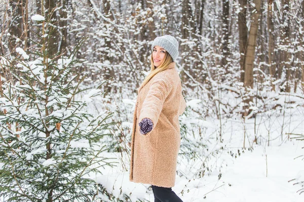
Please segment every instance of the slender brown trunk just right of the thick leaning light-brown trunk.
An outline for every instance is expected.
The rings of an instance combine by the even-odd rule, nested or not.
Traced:
[[[273,22],[273,0],[268,0],[268,16],[267,16],[267,26],[268,26],[268,65],[270,77],[274,76],[275,66],[274,66],[274,54],[275,54],[275,39],[274,39],[274,22]],[[275,85],[271,84],[273,91],[275,91]]]

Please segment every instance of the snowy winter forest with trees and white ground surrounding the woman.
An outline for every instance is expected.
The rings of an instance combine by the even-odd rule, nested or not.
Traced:
[[[183,201],[304,200],[303,0],[0,2],[0,201],[154,201],[129,181],[151,44],[179,42]]]

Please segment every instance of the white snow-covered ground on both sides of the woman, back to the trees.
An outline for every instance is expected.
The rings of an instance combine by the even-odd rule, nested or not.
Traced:
[[[134,103],[130,102],[130,105]],[[297,193],[301,186],[293,185],[298,181],[304,181],[304,141],[296,141],[288,136],[288,133],[304,134],[303,113],[302,107],[294,107],[286,109],[284,116],[282,112],[271,111],[259,114],[256,120],[251,118],[245,121],[238,116],[220,121],[214,117],[196,120],[194,114],[183,115],[180,119],[181,125],[185,124],[189,129],[193,127],[189,122],[196,120],[194,128],[202,126],[202,141],[208,141],[209,154],[212,150],[218,149],[219,145],[224,145],[228,151],[239,149],[240,156],[231,157],[226,151],[212,156],[206,162],[209,166],[215,166],[210,166],[210,175],[206,172],[201,178],[194,173],[195,169],[202,165],[200,159],[187,162],[179,158],[178,175],[172,189],[184,202],[304,201],[304,192]],[[132,127],[132,124],[124,122],[124,127]],[[219,131],[222,134],[222,143],[217,143],[216,140]],[[243,153],[244,134],[246,149]],[[255,136],[258,144],[254,143]],[[182,139],[181,143],[183,141]],[[252,148],[248,149],[251,146]],[[208,155],[205,152],[202,154]],[[121,153],[101,155],[116,158],[114,161],[118,161],[118,164],[112,168],[103,168],[102,175],[91,175],[91,178],[123,201],[126,200],[126,195],[132,202],[154,201],[149,184],[129,181],[129,157],[125,153],[123,158]],[[0,201],[5,200],[0,198]],[[105,197],[103,201],[110,200]]]

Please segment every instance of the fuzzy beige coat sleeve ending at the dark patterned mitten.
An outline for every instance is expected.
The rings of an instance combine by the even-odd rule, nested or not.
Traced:
[[[172,88],[173,85],[171,84],[170,79],[157,79],[151,83],[142,104],[138,119],[139,122],[144,118],[148,118],[153,122],[153,129],[155,128],[162,112],[163,104]],[[153,129],[151,131],[153,131]]]

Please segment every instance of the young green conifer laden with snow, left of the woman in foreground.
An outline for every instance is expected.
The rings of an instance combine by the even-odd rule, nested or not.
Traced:
[[[113,164],[100,155],[106,149],[100,139],[112,121],[108,111],[97,116],[87,111],[87,103],[102,92],[80,89],[85,76],[72,72],[81,63],[73,56],[84,40],[69,57],[56,60],[48,58],[44,44],[32,60],[21,48],[17,62],[0,59],[13,78],[2,76],[0,82],[0,197],[5,201],[111,197],[90,178]],[[90,92],[80,100],[84,90]]]

